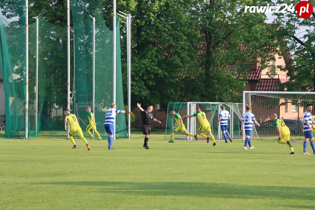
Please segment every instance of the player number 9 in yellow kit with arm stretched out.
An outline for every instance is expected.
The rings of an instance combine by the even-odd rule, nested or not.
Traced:
[[[185,117],[195,117],[195,116],[198,117],[198,120],[200,122],[200,128],[199,128],[199,131],[198,131],[199,135],[201,135],[203,138],[206,138],[207,139],[207,143],[209,143],[209,136],[210,136],[212,141],[213,141],[213,145],[212,146],[215,146],[216,145],[215,137],[211,133],[210,123],[207,120],[206,113],[201,111],[200,107],[196,108],[196,113],[195,114],[193,114],[193,115],[185,115],[185,116],[183,116],[183,118],[185,118]],[[209,136],[206,136],[205,134],[202,133],[205,130],[208,131],[208,135]],[[198,140],[198,139],[196,139],[196,140]]]

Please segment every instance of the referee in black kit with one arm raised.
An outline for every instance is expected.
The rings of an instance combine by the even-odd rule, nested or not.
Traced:
[[[153,110],[152,105],[148,105],[147,110],[142,109],[141,104],[139,104],[139,103],[137,103],[137,106],[141,110],[142,133],[143,133],[143,135],[145,135],[143,148],[149,149],[148,140],[149,140],[149,136],[151,133],[151,122],[153,120],[154,122],[158,122],[159,124],[161,124],[161,121],[159,121],[153,117],[153,115],[151,113]]]

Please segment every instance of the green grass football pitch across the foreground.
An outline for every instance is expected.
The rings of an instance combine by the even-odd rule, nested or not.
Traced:
[[[314,158],[273,140],[0,139],[0,209],[315,209]],[[311,146],[307,151],[311,153]]]

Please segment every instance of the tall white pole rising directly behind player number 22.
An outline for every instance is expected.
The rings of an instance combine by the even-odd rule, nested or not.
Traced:
[[[113,103],[116,104],[116,0],[113,0]],[[116,120],[113,139],[116,139]]]

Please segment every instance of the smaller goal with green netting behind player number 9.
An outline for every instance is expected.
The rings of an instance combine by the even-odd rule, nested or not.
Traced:
[[[200,110],[206,114],[207,120],[211,126],[211,132],[216,139],[222,139],[222,133],[220,125],[217,126],[219,113],[221,111],[221,105],[225,106],[225,109],[230,112],[231,120],[229,120],[228,131],[231,138],[241,138],[240,134],[240,118],[242,113],[242,104],[235,103],[219,103],[219,102],[187,102],[187,103],[169,103],[167,125],[165,130],[165,140],[170,139],[171,130],[174,128],[174,116],[170,114],[170,110],[174,109],[180,116],[192,115],[196,112],[196,107],[200,107]],[[200,128],[200,122],[197,117],[184,118],[183,124],[186,127],[187,132],[192,134],[198,134]],[[207,135],[207,131],[203,132]],[[193,137],[187,137],[182,132],[175,132],[174,139],[187,139],[192,140]],[[198,139],[203,139],[198,136]]]

